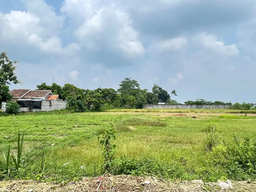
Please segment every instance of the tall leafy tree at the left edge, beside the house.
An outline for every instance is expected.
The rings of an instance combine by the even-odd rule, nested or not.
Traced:
[[[1,101],[10,100],[12,95],[9,93],[9,86],[11,83],[19,83],[15,75],[15,66],[13,64],[17,61],[10,61],[5,52],[0,54],[0,103]]]

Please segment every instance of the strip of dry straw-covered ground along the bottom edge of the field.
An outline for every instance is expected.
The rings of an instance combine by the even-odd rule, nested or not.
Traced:
[[[68,184],[54,184],[52,182],[35,182],[13,180],[0,182],[1,192],[11,191],[175,191],[175,192],[201,192],[201,191],[255,191],[256,184],[248,182],[232,182],[232,189],[221,189],[218,182],[172,182],[170,180],[157,180],[154,177],[133,177],[118,175],[113,177],[84,178],[81,182]]]

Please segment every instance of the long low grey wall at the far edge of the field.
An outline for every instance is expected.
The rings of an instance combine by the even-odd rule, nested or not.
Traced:
[[[157,105],[145,104],[143,109],[229,109],[228,105]]]

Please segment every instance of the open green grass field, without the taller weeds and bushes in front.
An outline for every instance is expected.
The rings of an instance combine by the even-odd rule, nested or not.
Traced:
[[[198,114],[197,118],[172,116],[169,113],[174,112],[162,110],[145,112],[148,111],[0,116],[0,150],[5,152],[11,145],[15,151],[18,131],[25,132],[24,161],[29,161],[15,178],[61,181],[94,177],[102,174],[103,163],[97,137],[113,124],[116,129],[113,142],[118,145],[116,158],[122,157],[124,161],[118,173],[127,173],[130,168],[129,173],[134,175],[215,181],[227,179],[230,173],[212,162],[216,152],[205,152],[205,127],[218,127],[220,140],[225,143],[232,141],[233,134],[256,138],[255,116],[227,115],[227,111],[212,115],[211,110],[203,110],[211,115],[190,111]],[[3,163],[3,157],[0,161]]]

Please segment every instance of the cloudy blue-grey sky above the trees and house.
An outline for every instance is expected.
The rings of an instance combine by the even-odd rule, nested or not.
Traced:
[[[0,0],[0,52],[20,84],[115,88],[131,77],[178,102],[256,103],[254,0]]]

